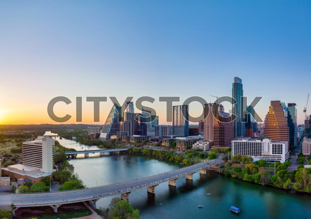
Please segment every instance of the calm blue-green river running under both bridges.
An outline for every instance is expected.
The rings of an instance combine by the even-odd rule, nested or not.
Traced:
[[[81,150],[96,146],[80,145],[72,140],[56,138],[61,145]],[[182,167],[182,165],[151,159],[134,154],[90,154],[69,161],[75,167],[87,187],[108,185],[136,178],[156,175]],[[217,173],[195,173],[193,181],[181,177],[177,186],[168,182],[156,186],[156,194],[148,194],[146,188],[133,191],[129,202],[140,210],[141,218],[311,218],[310,195],[291,193],[256,185]],[[211,195],[206,195],[211,193]],[[97,208],[107,208],[114,197],[100,199]],[[203,208],[198,208],[199,204]],[[230,206],[241,209],[231,212]]]

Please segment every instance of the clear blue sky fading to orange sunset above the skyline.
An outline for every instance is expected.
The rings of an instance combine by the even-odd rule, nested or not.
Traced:
[[[65,123],[76,123],[76,96],[84,124],[104,124],[112,107],[101,102],[94,122],[87,96],[151,96],[143,104],[167,124],[159,96],[214,102],[234,77],[249,103],[263,97],[262,118],[280,100],[301,124],[311,93],[310,1],[0,1],[0,33],[0,124],[59,124],[47,113],[57,96],[72,101],[54,105]]]

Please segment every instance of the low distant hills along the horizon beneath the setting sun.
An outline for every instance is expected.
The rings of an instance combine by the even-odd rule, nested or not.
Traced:
[[[0,125],[0,131],[50,131],[63,129],[86,129],[87,127],[103,127],[104,125],[88,125],[88,124],[29,124],[29,125]]]

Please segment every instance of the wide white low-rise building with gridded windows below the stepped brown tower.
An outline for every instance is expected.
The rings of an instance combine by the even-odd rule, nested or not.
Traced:
[[[288,141],[271,141],[271,139],[261,140],[234,140],[232,141],[232,156],[246,155],[274,162],[285,162],[289,157]]]

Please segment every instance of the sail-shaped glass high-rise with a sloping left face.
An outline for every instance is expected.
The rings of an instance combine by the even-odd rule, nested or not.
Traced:
[[[121,106],[114,104],[111,108],[103,129],[101,130],[99,140],[109,140],[111,136],[117,136],[117,132],[120,132],[120,122],[122,121],[122,109]],[[123,130],[123,129],[122,129]],[[121,131],[122,131],[121,130]]]

